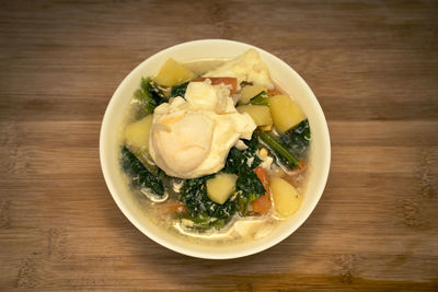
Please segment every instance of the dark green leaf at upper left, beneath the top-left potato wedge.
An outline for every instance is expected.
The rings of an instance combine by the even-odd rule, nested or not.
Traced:
[[[146,114],[152,114],[157,106],[168,102],[168,97],[159,85],[150,78],[141,79],[140,89],[134,93]]]

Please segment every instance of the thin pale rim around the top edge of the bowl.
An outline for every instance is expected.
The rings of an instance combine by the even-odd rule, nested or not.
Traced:
[[[138,71],[145,62],[148,62],[149,60],[157,58],[161,55],[165,55],[168,51],[170,50],[174,50],[177,49],[180,47],[184,47],[184,46],[191,46],[191,45],[197,45],[197,44],[203,44],[203,43],[228,43],[230,45],[239,45],[239,46],[246,46],[247,48],[255,48],[258,51],[263,51],[263,54],[268,55],[270,58],[274,58],[278,63],[280,63],[281,67],[287,68],[288,71],[291,72],[291,74],[293,74],[299,82],[301,83],[301,85],[304,87],[307,94],[309,94],[312,98],[312,103],[313,103],[313,107],[316,112],[316,115],[319,117],[321,117],[322,122],[320,126],[322,126],[321,128],[321,138],[322,141],[324,142],[324,155],[326,157],[326,163],[323,165],[323,170],[322,170],[322,179],[316,191],[313,194],[313,196],[315,196],[313,203],[307,209],[306,214],[300,217],[293,226],[290,227],[290,230],[288,232],[284,232],[281,234],[281,236],[275,237],[272,241],[269,241],[268,245],[257,245],[256,247],[252,248],[251,250],[240,250],[234,254],[208,254],[208,253],[203,253],[203,252],[197,252],[197,250],[193,250],[193,249],[188,249],[188,248],[183,248],[178,245],[173,244],[172,242],[165,241],[163,238],[161,238],[159,235],[149,232],[147,229],[145,229],[142,226],[142,224],[136,220],[131,214],[130,211],[127,209],[127,207],[124,205],[124,202],[122,201],[122,199],[119,199],[117,191],[116,191],[116,187],[114,186],[110,174],[110,167],[108,167],[108,162],[106,161],[106,156],[108,153],[108,149],[104,147],[104,140],[106,138],[106,133],[108,132],[108,122],[110,122],[110,116],[112,114],[113,110],[115,110],[115,106],[116,106],[116,96],[120,95],[120,93],[123,92],[124,87],[126,86],[127,82],[131,79],[131,77],[135,74],[136,71]],[[172,249],[176,253],[186,255],[186,256],[191,256],[191,257],[196,257],[196,258],[204,258],[204,259],[232,259],[232,258],[240,258],[240,257],[245,257],[245,256],[250,256],[250,255],[254,255],[257,254],[260,252],[263,252],[265,249],[268,249],[275,245],[277,245],[278,243],[280,243],[281,241],[284,241],[285,238],[287,238],[288,236],[290,236],[297,229],[299,229],[306,220],[308,220],[308,218],[310,217],[310,214],[313,212],[313,210],[316,208],[318,202],[320,201],[322,194],[324,191],[324,188],[326,186],[326,182],[328,178],[328,172],[330,172],[330,165],[331,165],[331,140],[330,140],[330,133],[328,133],[328,126],[324,116],[324,113],[321,108],[320,103],[318,102],[316,96],[314,95],[313,91],[310,89],[310,86],[308,85],[308,83],[304,81],[304,79],[298,74],[297,71],[295,71],[293,68],[291,68],[288,63],[286,63],[285,61],[283,61],[281,59],[279,59],[278,57],[276,57],[275,55],[250,44],[246,43],[242,43],[242,42],[237,42],[237,40],[230,40],[230,39],[220,39],[220,38],[209,38],[209,39],[197,39],[197,40],[191,40],[191,42],[185,42],[185,43],[180,43],[176,44],[174,46],[170,46],[166,47],[162,50],[159,50],[158,52],[149,56],[148,58],[146,58],[143,61],[141,61],[140,63],[138,63],[124,79],[123,81],[118,84],[116,91],[113,93],[110,103],[105,109],[105,114],[103,116],[103,120],[101,124],[101,131],[100,131],[100,161],[101,161],[101,170],[104,176],[104,180],[105,184],[110,190],[110,194],[112,195],[114,201],[116,202],[117,207],[120,209],[120,211],[124,213],[124,215],[129,220],[129,222],[131,224],[134,224],[141,233],[143,233],[146,236],[148,236],[150,240],[152,240],[153,242],[160,244],[161,246]]]

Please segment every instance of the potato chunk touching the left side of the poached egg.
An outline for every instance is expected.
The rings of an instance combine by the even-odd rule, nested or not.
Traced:
[[[152,115],[129,124],[125,128],[125,142],[134,151],[149,149],[149,132],[152,126]]]

